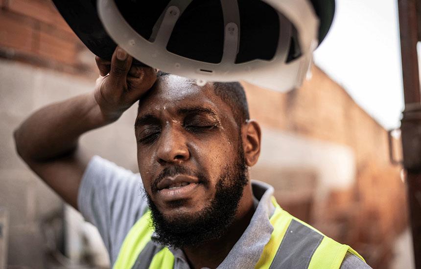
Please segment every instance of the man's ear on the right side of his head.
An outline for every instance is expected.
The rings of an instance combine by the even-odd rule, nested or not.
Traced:
[[[241,126],[244,158],[247,166],[254,166],[260,155],[260,126],[255,120],[248,120]]]

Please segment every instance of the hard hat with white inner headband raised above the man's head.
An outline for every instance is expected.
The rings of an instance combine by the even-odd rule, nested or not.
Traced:
[[[278,91],[301,85],[335,9],[334,0],[54,2],[91,50],[105,51],[108,34],[134,58],[164,72],[198,83],[242,80]],[[82,22],[70,18],[70,6]],[[103,26],[106,33],[84,30],[94,19],[91,28]],[[113,46],[107,50],[103,58],[110,57]]]

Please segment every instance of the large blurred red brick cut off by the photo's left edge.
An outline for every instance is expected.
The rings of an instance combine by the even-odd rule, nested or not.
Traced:
[[[30,21],[0,11],[0,45],[24,53],[32,53],[34,30]]]

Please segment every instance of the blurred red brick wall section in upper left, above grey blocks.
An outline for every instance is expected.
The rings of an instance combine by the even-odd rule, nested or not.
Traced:
[[[0,56],[95,76],[87,50],[49,0],[1,0]]]

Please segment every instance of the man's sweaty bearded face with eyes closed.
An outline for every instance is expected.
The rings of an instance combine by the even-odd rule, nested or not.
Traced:
[[[211,220],[204,214],[218,207],[215,200],[234,199],[228,212],[234,215],[247,182],[239,128],[211,85],[174,75],[158,80],[140,100],[135,124],[140,175],[153,213],[174,227],[193,225]]]

